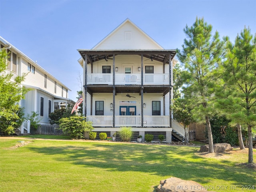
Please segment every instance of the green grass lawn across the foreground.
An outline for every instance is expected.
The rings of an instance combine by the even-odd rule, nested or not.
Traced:
[[[30,143],[13,149],[18,140]],[[170,177],[203,186],[255,186],[255,170],[236,166],[248,161],[247,153],[216,158],[198,151],[191,146],[0,138],[0,191],[153,192]]]

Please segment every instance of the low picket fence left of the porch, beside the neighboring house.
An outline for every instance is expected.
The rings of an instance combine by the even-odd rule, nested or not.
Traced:
[[[59,129],[59,125],[42,125],[38,126],[38,129],[35,130],[32,134],[42,134],[42,135],[62,135],[62,130]]]

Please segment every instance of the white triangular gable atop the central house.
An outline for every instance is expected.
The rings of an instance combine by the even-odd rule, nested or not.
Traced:
[[[162,50],[164,48],[127,18],[92,48],[92,50],[109,49]]]

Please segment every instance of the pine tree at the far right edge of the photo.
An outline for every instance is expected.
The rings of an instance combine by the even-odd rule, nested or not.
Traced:
[[[231,122],[248,127],[248,163],[253,163],[252,128],[256,126],[256,36],[253,37],[250,29],[244,28],[236,37],[234,45],[229,43],[223,68],[223,92],[226,99],[220,99],[219,103],[226,106]]]

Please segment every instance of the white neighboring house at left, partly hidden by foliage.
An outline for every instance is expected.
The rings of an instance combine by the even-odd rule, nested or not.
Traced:
[[[74,101],[68,98],[70,89],[54,78],[49,72],[40,67],[36,62],[15,48],[12,44],[0,36],[1,49],[10,53],[6,62],[6,73],[12,73],[13,77],[27,74],[22,86],[31,90],[20,101],[24,107],[25,116],[36,112],[41,119],[40,124],[49,124],[48,114],[68,103],[74,105]]]

